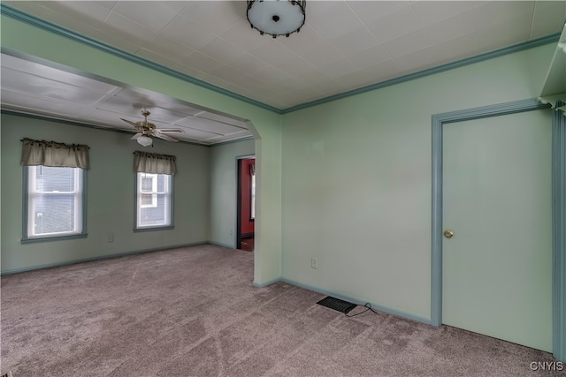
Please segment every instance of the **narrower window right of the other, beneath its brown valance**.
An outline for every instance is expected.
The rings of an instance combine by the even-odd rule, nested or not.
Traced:
[[[136,229],[172,226],[172,176],[136,173]]]

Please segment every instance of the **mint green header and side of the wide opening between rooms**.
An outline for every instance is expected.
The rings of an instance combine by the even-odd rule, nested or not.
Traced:
[[[256,211],[256,227],[261,229],[262,236],[256,238],[255,281],[264,283],[279,277],[281,244],[281,116],[279,114],[175,79],[19,20],[2,16],[0,26],[2,46],[5,49],[248,119],[256,132],[256,158],[261,160],[257,162],[257,169],[263,171],[261,176],[258,175],[258,186],[262,188],[257,192],[258,203],[261,204]]]

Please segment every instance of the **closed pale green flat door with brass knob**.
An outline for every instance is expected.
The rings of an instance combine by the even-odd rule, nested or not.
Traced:
[[[551,116],[443,126],[442,322],[552,351]]]

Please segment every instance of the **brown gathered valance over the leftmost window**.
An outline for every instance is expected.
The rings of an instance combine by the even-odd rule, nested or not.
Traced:
[[[64,144],[56,141],[22,139],[21,165],[54,166],[88,169],[88,149],[86,145]]]

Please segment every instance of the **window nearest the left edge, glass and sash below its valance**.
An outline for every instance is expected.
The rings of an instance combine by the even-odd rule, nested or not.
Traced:
[[[83,235],[85,170],[49,166],[25,168],[27,227],[22,241]]]

